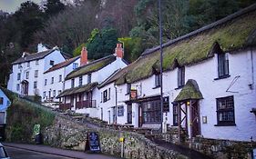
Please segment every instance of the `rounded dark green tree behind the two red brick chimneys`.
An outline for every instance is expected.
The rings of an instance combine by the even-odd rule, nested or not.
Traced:
[[[114,53],[118,43],[118,32],[113,28],[97,30],[91,32],[87,40],[87,51],[89,59],[98,59]]]

